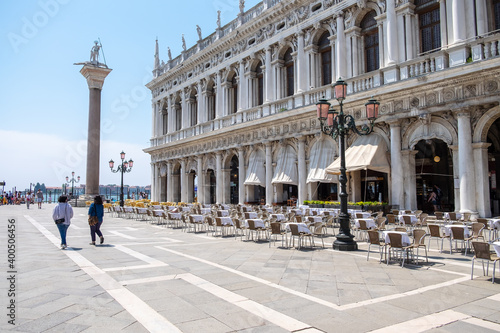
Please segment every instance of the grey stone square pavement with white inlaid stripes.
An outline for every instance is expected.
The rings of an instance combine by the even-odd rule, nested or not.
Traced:
[[[500,331],[491,269],[478,263],[471,281],[471,256],[435,242],[429,264],[401,268],[367,261],[363,242],[354,253],[331,250],[333,237],[325,249],[269,247],[106,213],[105,244],[91,246],[87,211],[74,208],[60,250],[53,206],[0,206],[2,332]]]

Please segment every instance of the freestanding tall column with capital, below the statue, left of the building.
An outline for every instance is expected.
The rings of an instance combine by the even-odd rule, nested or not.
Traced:
[[[101,91],[110,68],[86,63],[80,73],[89,87],[89,127],[87,136],[87,175],[85,196],[99,195],[99,157],[101,147]]]

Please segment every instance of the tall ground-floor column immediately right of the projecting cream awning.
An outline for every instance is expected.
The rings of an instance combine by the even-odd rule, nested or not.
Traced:
[[[391,192],[392,205],[404,206],[404,176],[401,156],[401,123],[399,120],[389,122],[391,126]],[[410,169],[409,171],[414,172]]]

